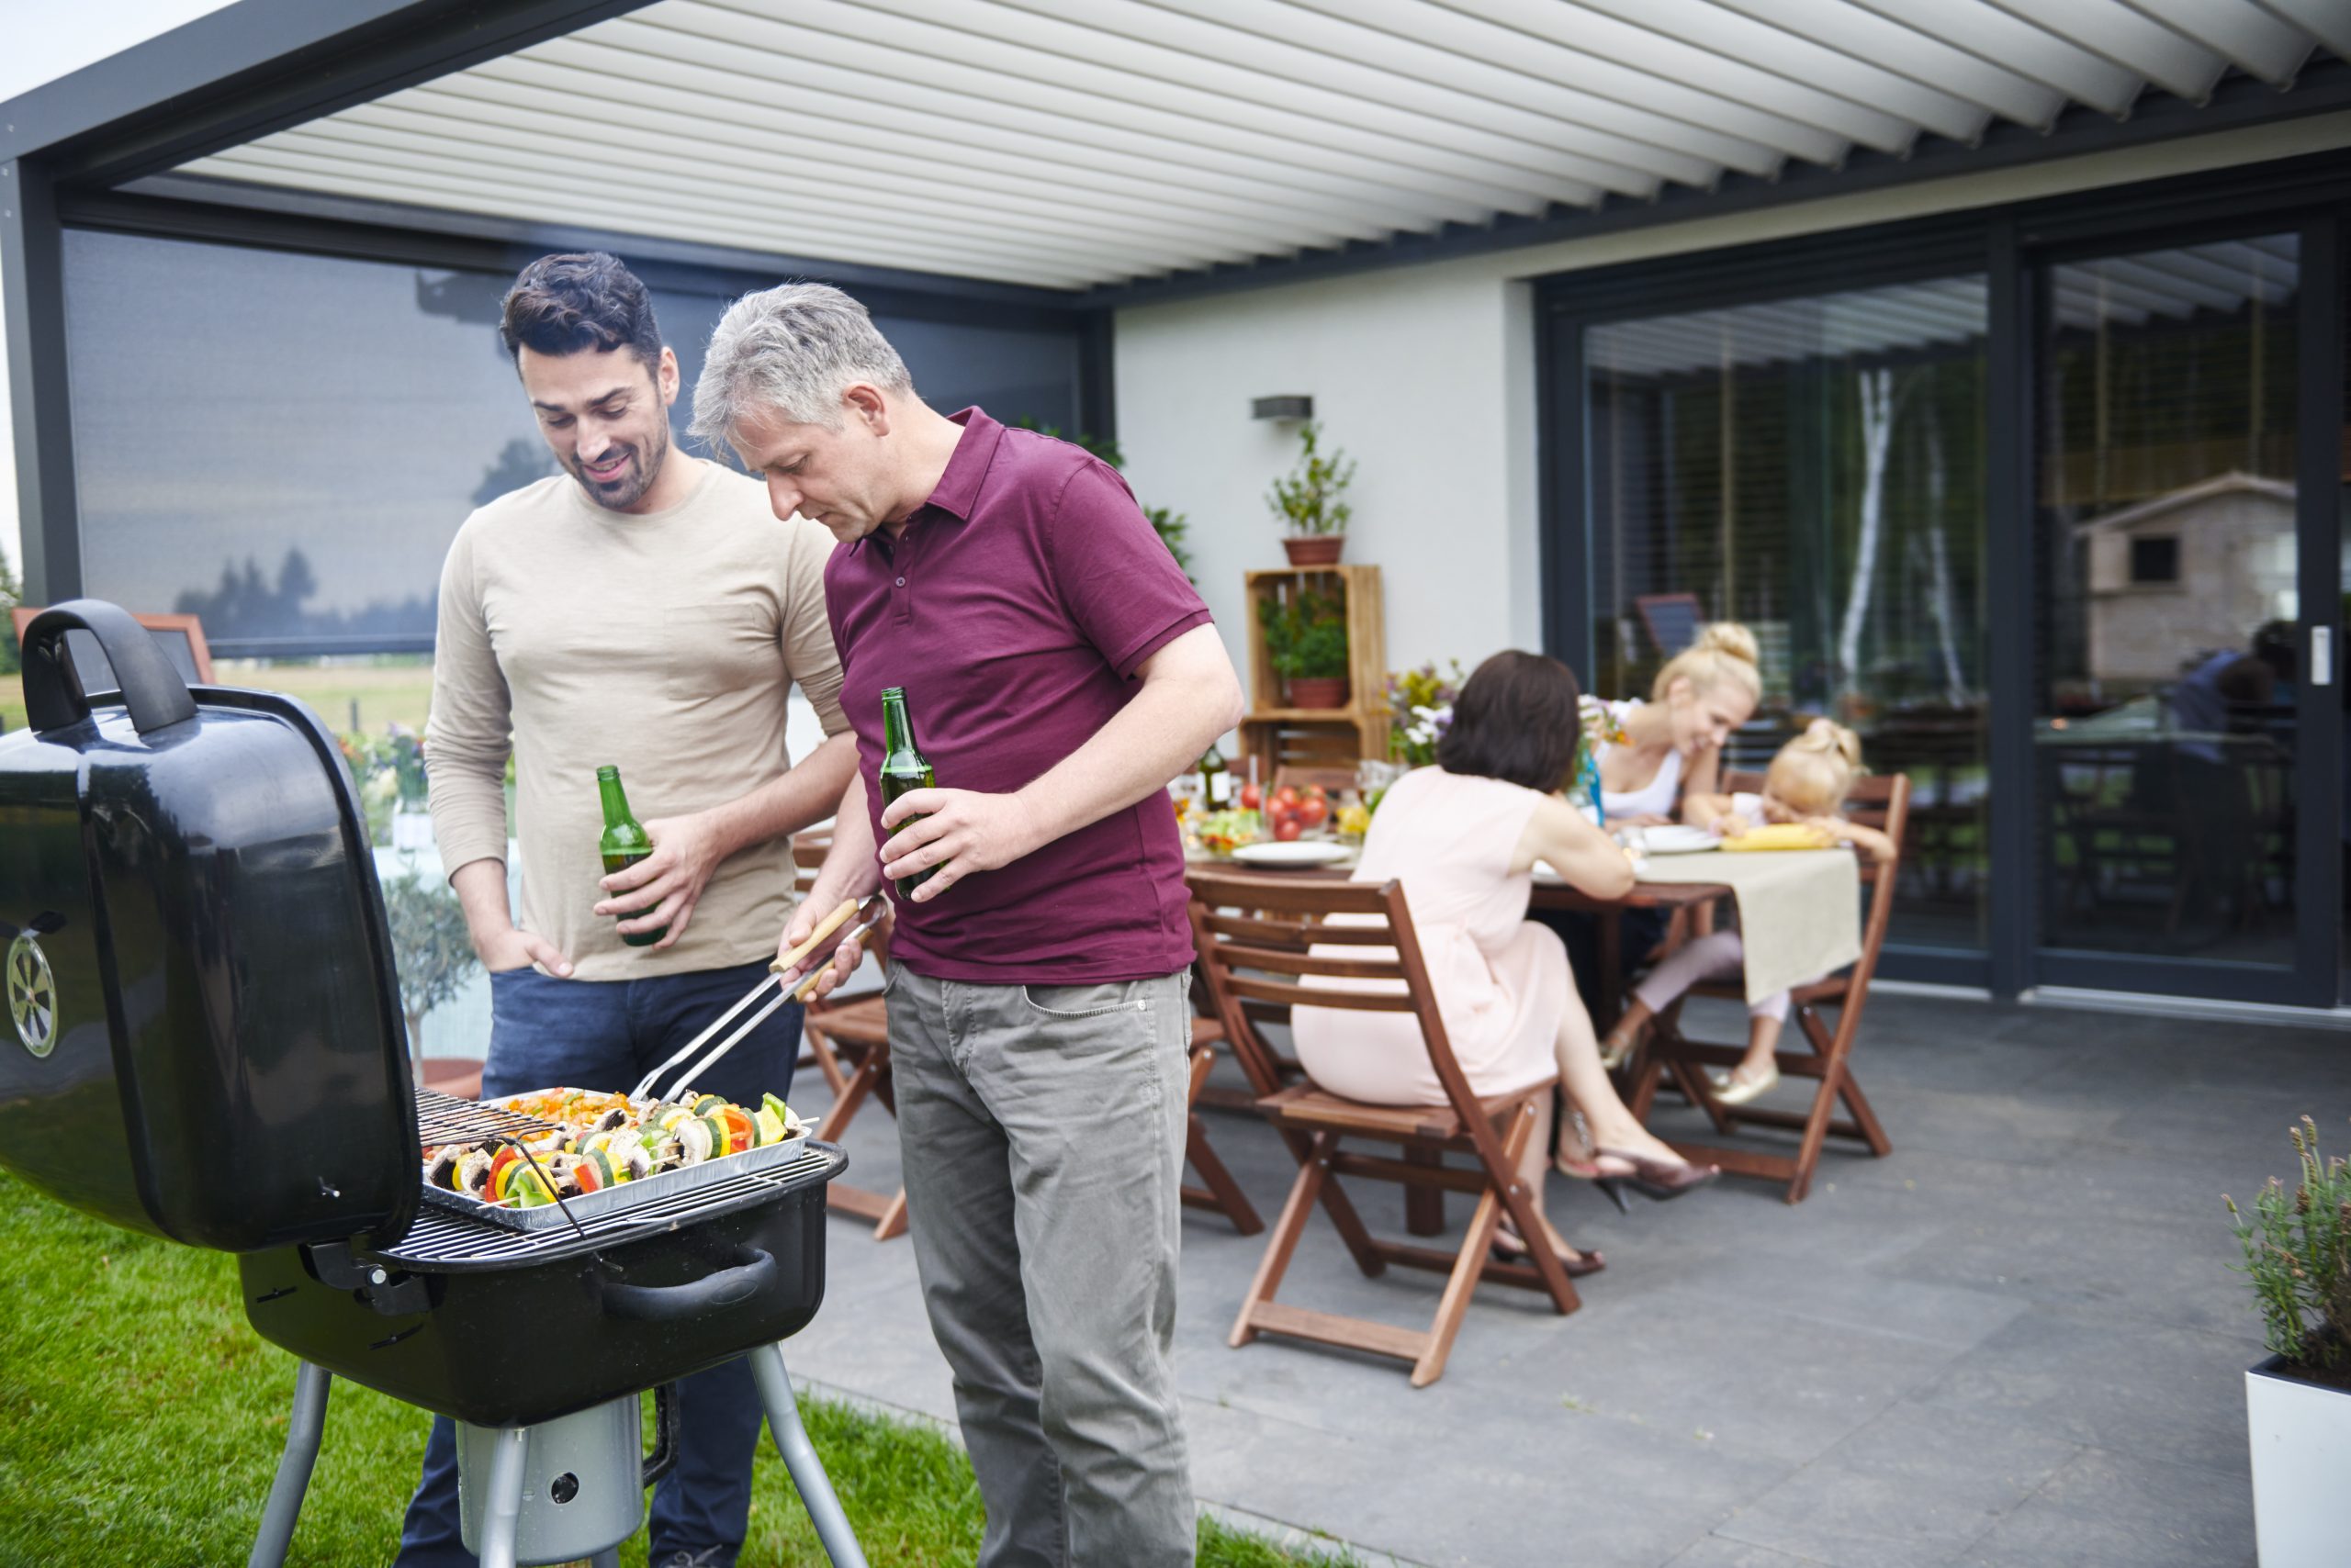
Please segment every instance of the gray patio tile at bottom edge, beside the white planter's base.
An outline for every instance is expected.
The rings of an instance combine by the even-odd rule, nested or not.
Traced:
[[[2092,1448],[1951,1568],[2252,1568],[2241,1476]]]

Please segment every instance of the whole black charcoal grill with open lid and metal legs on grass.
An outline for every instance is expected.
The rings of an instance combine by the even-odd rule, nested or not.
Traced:
[[[120,693],[82,691],[68,630]],[[675,1450],[670,1385],[748,1356],[828,1554],[863,1568],[778,1349],[823,1300],[846,1157],[811,1140],[536,1232],[423,1206],[423,1147],[543,1126],[414,1088],[334,736],[282,696],[190,691],[96,599],[31,623],[24,691],[0,738],[0,1164],[240,1255],[247,1319],[301,1359],[252,1563],[284,1561],[334,1375],[461,1422],[465,1542],[510,1568],[616,1561]]]

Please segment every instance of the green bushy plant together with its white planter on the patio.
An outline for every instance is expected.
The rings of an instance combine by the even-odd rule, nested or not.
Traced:
[[[2292,1128],[2299,1180],[2269,1178],[2238,1211],[2243,1274],[2269,1359],[2245,1373],[2252,1521],[2262,1568],[2351,1556],[2342,1481],[2351,1476],[2351,1161],[2318,1154],[2318,1126]]]

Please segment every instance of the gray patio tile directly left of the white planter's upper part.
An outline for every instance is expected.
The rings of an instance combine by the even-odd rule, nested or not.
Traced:
[[[2245,1368],[2257,1359],[2259,1345],[2241,1338],[2036,1307],[1916,1401],[2250,1486]]]

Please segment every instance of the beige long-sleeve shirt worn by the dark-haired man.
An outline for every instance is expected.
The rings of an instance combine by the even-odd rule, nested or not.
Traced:
[[[682,461],[679,456],[670,458]],[[522,929],[581,980],[745,964],[776,947],[792,846],[752,844],[710,877],[675,947],[628,947],[604,896],[595,771],[616,764],[639,823],[750,795],[792,766],[785,701],[842,719],[825,623],[832,536],[776,522],[766,489],[717,463],[675,508],[611,512],[555,475],[498,496],[442,564],[426,766],[433,835],[454,875],[505,860],[505,757],[515,757]]]

